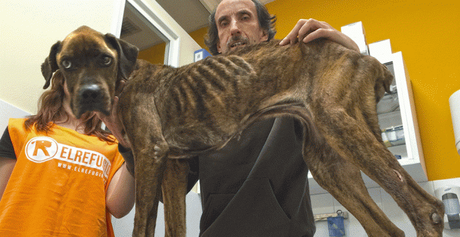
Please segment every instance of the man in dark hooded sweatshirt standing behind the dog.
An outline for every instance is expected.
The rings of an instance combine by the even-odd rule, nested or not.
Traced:
[[[259,1],[224,0],[210,15],[206,44],[220,54],[271,40],[274,23]],[[322,37],[359,52],[353,40],[312,19],[299,20],[280,45]],[[200,236],[313,236],[307,173],[302,125],[291,118],[258,121],[221,150],[192,159],[188,186],[200,180]]]

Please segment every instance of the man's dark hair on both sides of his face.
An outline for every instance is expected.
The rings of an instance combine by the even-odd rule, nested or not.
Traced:
[[[276,29],[275,29],[275,22],[276,22],[276,16],[275,15],[270,15],[268,13],[268,10],[265,6],[263,6],[262,3],[260,3],[258,0],[252,0],[254,4],[256,5],[256,11],[257,11],[257,17],[259,18],[259,26],[261,26],[261,29],[263,31],[266,31],[268,34],[268,39],[267,41],[270,41],[273,36],[275,36]],[[208,46],[208,49],[211,54],[216,55],[219,54],[217,52],[217,43],[219,42],[219,33],[217,32],[217,24],[215,23],[215,10],[217,7],[213,10],[213,12],[209,16],[209,29],[208,33],[206,34],[204,38],[204,43],[206,46]]]

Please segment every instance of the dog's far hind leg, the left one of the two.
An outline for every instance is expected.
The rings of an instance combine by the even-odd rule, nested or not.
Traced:
[[[320,146],[304,147],[305,160],[316,182],[358,219],[368,236],[404,236],[371,199],[360,170],[332,151],[328,144]]]

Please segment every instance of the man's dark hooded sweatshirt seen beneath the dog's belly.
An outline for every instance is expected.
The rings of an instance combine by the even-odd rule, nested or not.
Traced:
[[[200,236],[313,236],[302,126],[291,118],[258,121],[220,151],[191,165],[200,180]]]

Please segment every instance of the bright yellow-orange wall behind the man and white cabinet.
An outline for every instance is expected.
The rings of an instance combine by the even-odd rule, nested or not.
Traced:
[[[411,77],[428,179],[434,181],[460,177],[449,107],[449,96],[460,89],[460,3],[455,2],[276,0],[266,6],[277,15],[275,38],[286,36],[299,19],[314,18],[338,30],[361,21],[367,43],[390,39]],[[190,35],[201,43],[204,33]]]

